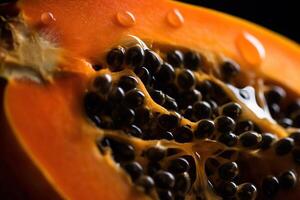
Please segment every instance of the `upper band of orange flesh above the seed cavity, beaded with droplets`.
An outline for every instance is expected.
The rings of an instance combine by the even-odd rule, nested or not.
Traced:
[[[253,69],[254,66],[249,66],[249,63],[242,59],[241,51],[237,48],[238,38],[249,33],[262,43],[266,52],[260,65],[262,73],[295,91],[298,90],[295,84],[298,76],[294,72],[298,71],[299,66],[299,46],[268,30],[226,14],[179,2],[159,0],[143,2],[143,6],[135,1],[112,3],[109,0],[29,0],[21,1],[20,6],[27,21],[32,25],[41,23],[43,12],[52,13],[55,22],[49,26],[50,30],[56,30],[55,40],[92,63],[101,58],[112,44],[118,44],[124,36],[130,34],[162,44],[218,52]],[[184,23],[179,28],[168,25],[167,15],[173,9],[178,9],[184,17]],[[125,11],[131,12],[136,19],[132,27],[123,27],[116,20],[116,15]],[[111,30],[114,30],[114,34],[111,34]],[[250,54],[252,48],[246,47]],[[282,66],[285,66],[285,70],[281,70]],[[281,76],[278,76],[278,71],[281,71]],[[285,77],[289,77],[290,81],[287,82]]]

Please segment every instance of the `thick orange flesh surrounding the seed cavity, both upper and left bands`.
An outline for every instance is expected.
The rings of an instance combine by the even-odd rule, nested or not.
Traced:
[[[19,7],[25,21],[33,28],[50,34],[49,38],[73,57],[91,63],[103,60],[105,53],[122,38],[136,35],[146,41],[222,54],[251,69],[254,66],[243,59],[235,45],[236,38],[248,32],[265,48],[266,57],[260,66],[262,74],[300,94],[300,48],[297,44],[215,11],[161,0],[144,1],[143,6],[134,0],[23,0]],[[167,13],[173,8],[179,9],[185,19],[179,28],[169,26],[166,21]],[[124,10],[136,17],[133,27],[118,25],[115,14]],[[41,25],[40,16],[48,11],[56,21]],[[2,118],[7,120],[5,132],[14,136],[9,140],[19,145],[18,155],[29,157],[30,165],[43,176],[41,182],[46,181],[45,184],[50,184],[64,199],[147,198],[128,186],[125,174],[116,173],[97,152],[94,143],[98,133],[87,124],[82,111],[82,95],[92,72],[90,66],[76,64],[75,67],[64,65],[63,70],[80,68],[81,72],[62,74],[46,84],[9,80],[1,103],[4,107]],[[84,167],[76,168],[82,165]],[[292,199],[292,196],[299,196],[299,192],[280,193],[278,198],[281,195]]]

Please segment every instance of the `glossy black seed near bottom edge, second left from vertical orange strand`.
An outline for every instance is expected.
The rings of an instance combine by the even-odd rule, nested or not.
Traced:
[[[168,171],[159,170],[154,175],[155,185],[159,188],[171,189],[175,185],[175,177]]]

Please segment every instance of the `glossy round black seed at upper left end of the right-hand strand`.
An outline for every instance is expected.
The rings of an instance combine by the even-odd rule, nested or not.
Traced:
[[[181,71],[177,76],[177,83],[181,89],[189,90],[196,83],[194,73],[188,69]]]

